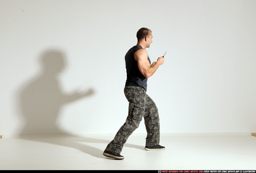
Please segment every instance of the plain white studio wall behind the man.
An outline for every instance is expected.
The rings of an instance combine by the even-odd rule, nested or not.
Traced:
[[[256,132],[255,0],[0,0],[0,135],[116,133],[141,27],[162,133]]]

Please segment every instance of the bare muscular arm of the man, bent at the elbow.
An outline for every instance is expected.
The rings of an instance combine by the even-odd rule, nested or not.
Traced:
[[[148,61],[148,53],[145,49],[139,49],[136,51],[134,58],[138,62],[138,68],[141,71],[141,74],[146,78],[151,77],[157,68],[164,62],[164,58],[159,57],[156,62],[153,62],[150,65]]]

